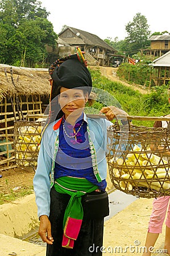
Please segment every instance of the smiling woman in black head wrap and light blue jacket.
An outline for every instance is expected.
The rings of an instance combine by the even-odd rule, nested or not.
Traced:
[[[34,177],[39,234],[47,256],[102,255],[103,217],[109,214],[106,129],[115,115],[126,113],[111,106],[101,109],[107,119],[85,115],[92,78],[79,49],[56,61],[49,73],[51,115]],[[90,206],[87,196],[93,197]]]

